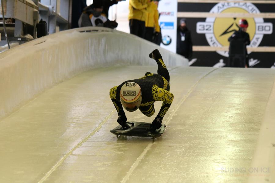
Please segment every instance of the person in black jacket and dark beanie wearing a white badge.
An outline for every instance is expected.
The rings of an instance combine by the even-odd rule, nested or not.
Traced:
[[[190,59],[193,54],[193,44],[191,39],[191,33],[186,27],[186,20],[183,18],[180,20],[180,26],[177,30],[177,53]]]

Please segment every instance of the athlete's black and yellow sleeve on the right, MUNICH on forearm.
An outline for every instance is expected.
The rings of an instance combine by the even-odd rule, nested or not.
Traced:
[[[152,89],[153,98],[156,101],[162,101],[162,106],[160,108],[160,112],[158,113],[156,118],[163,119],[164,115],[167,113],[168,109],[170,108],[174,95],[163,88],[159,88],[157,85],[153,86]]]

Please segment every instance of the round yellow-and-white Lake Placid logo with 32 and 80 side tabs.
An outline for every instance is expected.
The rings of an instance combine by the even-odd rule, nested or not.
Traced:
[[[259,9],[250,2],[220,2],[216,4],[210,13],[260,13]],[[247,33],[250,36],[251,43],[249,47],[258,47],[264,34],[272,34],[273,24],[265,23],[263,18],[245,18],[245,17],[207,17],[205,22],[197,22],[196,32],[205,34],[208,44],[212,47],[229,46],[228,38],[239,30],[239,20],[248,21]],[[228,51],[217,51],[218,54],[228,57]]]

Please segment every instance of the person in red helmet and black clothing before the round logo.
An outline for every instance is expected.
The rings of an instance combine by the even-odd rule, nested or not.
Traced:
[[[241,19],[239,21],[239,26],[240,26],[240,29],[238,31],[235,30],[235,32],[228,38],[228,41],[230,42],[232,40],[239,40],[239,41],[243,42],[245,44],[245,46],[250,45],[250,37],[249,37],[249,34],[246,32],[247,28],[248,28],[247,20]],[[232,57],[231,50],[229,50],[229,59],[231,57]],[[245,47],[245,66],[242,63],[243,63],[242,61],[239,61],[239,64],[230,65],[230,62],[229,62],[229,66],[230,67],[245,67],[245,68],[249,67],[248,52],[247,52],[246,47]]]

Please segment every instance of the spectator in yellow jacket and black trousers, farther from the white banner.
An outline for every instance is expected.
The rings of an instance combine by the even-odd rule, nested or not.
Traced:
[[[145,36],[145,20],[150,11],[150,0],[130,0],[129,2],[129,26],[130,33],[141,38]]]

